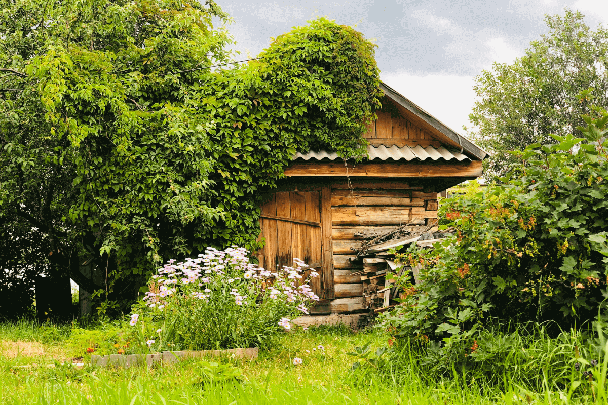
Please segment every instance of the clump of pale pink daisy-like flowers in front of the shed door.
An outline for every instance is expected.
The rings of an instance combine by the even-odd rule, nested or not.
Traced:
[[[319,297],[309,285],[314,270],[294,259],[294,267],[278,273],[249,262],[244,248],[207,248],[196,259],[159,268],[145,297],[133,306],[145,349],[232,349],[260,347],[291,318],[308,313],[305,304]],[[146,347],[147,345],[147,347]]]

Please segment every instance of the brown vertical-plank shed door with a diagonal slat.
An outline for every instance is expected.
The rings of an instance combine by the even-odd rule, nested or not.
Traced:
[[[297,257],[319,273],[311,281],[314,293],[320,298],[333,298],[333,264],[328,264],[330,277],[323,260],[327,255],[323,250],[321,191],[270,192],[262,198],[260,237],[266,239],[266,245],[258,251],[260,267],[275,271],[292,266]],[[306,271],[304,277],[308,275]]]

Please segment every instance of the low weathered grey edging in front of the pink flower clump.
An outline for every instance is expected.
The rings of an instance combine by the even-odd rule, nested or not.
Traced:
[[[227,349],[227,350],[182,350],[181,352],[162,352],[156,355],[106,355],[91,356],[91,366],[94,367],[123,367],[128,369],[134,366],[152,367],[159,362],[176,363],[185,359],[196,359],[203,357],[229,356],[237,359],[253,360],[258,357],[258,347],[247,349]]]

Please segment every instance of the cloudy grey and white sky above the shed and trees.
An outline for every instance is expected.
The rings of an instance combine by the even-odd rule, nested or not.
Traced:
[[[608,23],[608,0],[218,0],[241,57],[270,38],[328,16],[356,26],[378,48],[381,79],[440,121],[463,133],[474,103],[474,77],[492,62],[509,63],[547,32],[545,14],[564,8]]]

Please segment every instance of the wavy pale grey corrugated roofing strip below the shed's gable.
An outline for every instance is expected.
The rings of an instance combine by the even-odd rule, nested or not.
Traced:
[[[384,145],[380,146],[368,146],[367,153],[369,154],[369,160],[458,160],[461,162],[463,160],[471,160],[460,152],[451,152],[447,150],[444,146],[440,146],[439,148],[434,148],[433,146],[427,146],[427,148],[423,148],[418,145],[415,148],[410,148],[410,146],[403,146],[402,148],[398,148],[396,145],[387,148]],[[307,154],[302,154],[298,152],[293,157],[293,160],[302,158],[304,160],[322,160],[322,159],[330,159],[336,160],[338,155],[336,152],[326,152],[326,151],[309,151]]]

